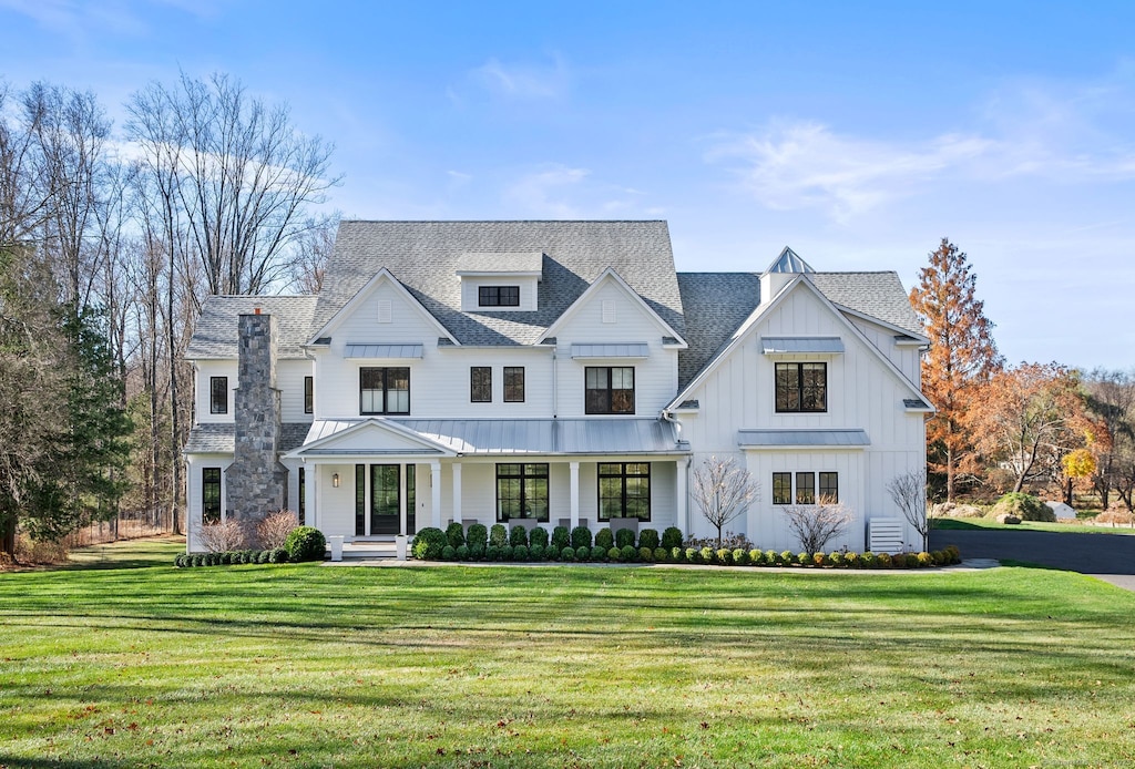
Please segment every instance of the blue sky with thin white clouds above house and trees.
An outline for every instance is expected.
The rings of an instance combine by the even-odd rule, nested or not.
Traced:
[[[1135,366],[1135,3],[928,6],[0,0],[0,77],[120,121],[229,73],[348,217],[661,218],[680,270],[908,288],[945,236],[1010,362]]]

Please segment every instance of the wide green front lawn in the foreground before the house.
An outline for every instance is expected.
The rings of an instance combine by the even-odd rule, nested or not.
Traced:
[[[1135,594],[1075,574],[174,569],[175,547],[0,575],[0,766],[1135,761]]]

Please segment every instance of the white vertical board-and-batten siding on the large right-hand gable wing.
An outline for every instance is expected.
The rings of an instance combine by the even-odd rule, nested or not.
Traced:
[[[763,353],[762,337],[800,336],[839,337],[844,352]],[[893,341],[892,337],[888,338]],[[679,414],[683,437],[697,449],[695,467],[713,455],[731,456],[760,484],[760,498],[743,524],[746,533],[759,547],[779,550],[797,546],[783,513],[772,505],[774,472],[839,473],[840,501],[850,508],[855,522],[840,541],[833,541],[829,548],[846,546],[861,550],[866,544],[868,518],[901,517],[886,492],[886,483],[909,470],[924,467],[925,420],[920,413],[906,412],[902,400],[911,397],[909,383],[880,361],[869,344],[848,329],[841,318],[809,290],[797,286],[748,331],[741,344],[690,395],[699,402],[699,409]],[[901,349],[897,355],[903,358],[907,350]],[[776,413],[775,363],[781,361],[827,364],[826,412]],[[911,361],[917,367],[916,350],[911,353]],[[911,361],[903,363],[909,367]],[[917,371],[910,373],[917,377]],[[739,429],[801,428],[859,429],[867,433],[869,445],[861,448],[762,447],[743,451],[738,447]],[[690,523],[699,533],[708,532],[708,523],[696,506],[690,508]],[[738,524],[737,529],[741,526]],[[920,543],[911,527],[907,527],[905,535],[908,543]]]

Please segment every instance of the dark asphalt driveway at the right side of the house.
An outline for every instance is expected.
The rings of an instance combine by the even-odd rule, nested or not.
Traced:
[[[932,550],[948,544],[957,544],[962,558],[1040,564],[1135,589],[1135,536],[990,529],[931,531]]]

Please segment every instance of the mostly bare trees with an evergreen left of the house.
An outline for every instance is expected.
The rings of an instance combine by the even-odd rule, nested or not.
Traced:
[[[0,549],[127,509],[179,530],[184,357],[212,294],[318,290],[334,146],[226,75],[0,83]]]

